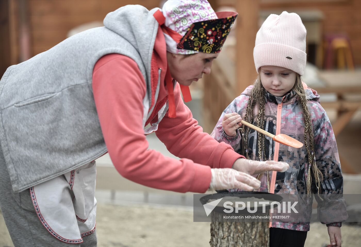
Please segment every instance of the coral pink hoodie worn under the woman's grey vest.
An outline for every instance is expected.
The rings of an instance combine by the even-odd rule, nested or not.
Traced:
[[[159,28],[152,71],[162,68],[161,81],[166,61],[164,36]],[[174,90],[177,117],[169,118],[167,113],[156,135],[172,154],[182,159],[148,149],[142,125],[145,81],[134,60],[125,55],[108,54],[99,59],[93,69],[92,87],[110,158],[118,172],[129,180],[158,189],[204,193],[211,180],[210,168],[230,168],[236,159],[243,158],[230,145],[203,133],[183,103],[179,84]],[[165,84],[161,83],[155,110],[167,99]]]

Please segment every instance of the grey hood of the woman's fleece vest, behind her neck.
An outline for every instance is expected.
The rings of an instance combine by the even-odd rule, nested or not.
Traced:
[[[150,71],[158,22],[153,14],[159,8],[146,9],[141,5],[126,5],[104,18],[104,26],[123,37],[138,50],[144,66]]]

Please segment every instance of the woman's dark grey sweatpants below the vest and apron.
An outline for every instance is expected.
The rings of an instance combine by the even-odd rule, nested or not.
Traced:
[[[61,242],[53,237],[36,215],[29,189],[14,193],[0,148],[0,208],[15,247],[96,247],[96,231],[81,244]]]

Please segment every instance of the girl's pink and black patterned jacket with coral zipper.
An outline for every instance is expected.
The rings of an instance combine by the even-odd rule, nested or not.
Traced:
[[[237,130],[234,137],[225,134],[222,128],[222,118],[227,113],[238,112],[242,117],[248,104],[249,94],[253,86],[248,86],[244,92],[235,98],[233,102],[223,111],[218,120],[216,127],[212,132],[212,136],[218,142],[230,144],[238,153],[241,152],[241,134]],[[319,95],[316,91],[310,89],[304,84],[308,107],[312,118],[314,145],[316,164],[323,173],[322,194],[342,194],[343,193],[343,177],[340,167],[338,149],[336,145],[335,135],[332,130],[329,118],[325,110],[319,104]],[[304,119],[302,107],[298,104],[298,98],[294,91],[290,91],[284,96],[274,96],[266,91],[265,104],[265,130],[271,134],[286,134],[304,143]],[[257,107],[256,107],[257,108]],[[255,114],[258,109],[255,109]],[[255,124],[255,123],[253,123]],[[257,133],[251,130],[248,135],[248,156],[249,159],[258,159]],[[290,164],[290,168],[286,172],[269,172],[270,175],[270,193],[275,194],[306,194],[305,181],[308,171],[308,155],[306,149],[292,148],[283,144],[274,142],[268,136],[265,137],[264,147],[265,160],[278,160]],[[238,189],[230,189],[229,191],[237,191]],[[261,192],[268,192],[266,176],[261,178]],[[317,190],[313,189],[316,194]],[[312,202],[310,203],[312,204]],[[308,210],[311,205],[308,205]],[[320,213],[322,208],[318,208]],[[347,213],[346,213],[347,215]],[[324,223],[324,222],[323,222]],[[341,226],[340,222],[330,223],[327,226]],[[308,231],[309,223],[282,223],[273,222],[272,227]]]

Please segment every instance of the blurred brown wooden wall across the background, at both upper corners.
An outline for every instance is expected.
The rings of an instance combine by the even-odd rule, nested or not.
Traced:
[[[19,12],[26,4],[29,27],[29,56],[41,53],[66,39],[72,28],[84,23],[102,22],[105,15],[126,4],[148,9],[161,0],[1,0],[0,75],[5,67],[21,62],[22,39]],[[210,0],[216,5],[235,5],[236,0]],[[19,7],[20,5],[20,7]],[[262,10],[319,10],[324,15],[323,34],[345,32],[351,39],[355,65],[361,66],[361,0],[260,0]],[[24,22],[23,22],[24,23]],[[26,42],[27,37],[23,37]],[[25,41],[24,41],[25,40]],[[10,46],[10,47],[9,47]]]

